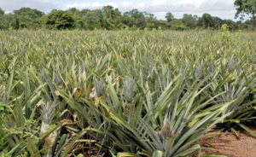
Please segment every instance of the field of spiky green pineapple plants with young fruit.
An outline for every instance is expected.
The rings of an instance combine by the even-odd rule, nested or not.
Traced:
[[[212,134],[256,137],[255,32],[0,37],[0,156],[202,156]]]

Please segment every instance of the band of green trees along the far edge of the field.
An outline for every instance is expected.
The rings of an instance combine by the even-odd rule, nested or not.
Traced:
[[[245,14],[253,15],[249,20],[223,20],[210,14],[197,15],[184,14],[183,18],[177,19],[171,12],[166,13],[166,20],[158,20],[153,14],[141,12],[138,9],[131,9],[121,13],[119,9],[112,6],[104,6],[102,9],[53,9],[48,15],[38,9],[21,8],[13,13],[4,14],[0,9],[0,29],[83,29],[83,30],[137,30],[137,29],[219,29],[226,24],[231,30],[253,29],[255,26],[255,12],[244,9],[245,6],[236,0],[236,16]],[[256,2],[256,1],[255,1]],[[256,5],[256,4],[253,4]]]

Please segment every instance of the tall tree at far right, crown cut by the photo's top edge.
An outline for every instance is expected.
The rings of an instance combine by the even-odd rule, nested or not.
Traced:
[[[252,15],[253,26],[256,29],[256,0],[236,0],[236,17],[244,14]]]

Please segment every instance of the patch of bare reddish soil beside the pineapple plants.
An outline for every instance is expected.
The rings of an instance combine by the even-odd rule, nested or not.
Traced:
[[[256,129],[253,131],[256,132]],[[244,131],[239,134],[239,137],[231,133],[206,137],[201,140],[201,147],[204,147],[202,155],[256,157],[256,138]]]

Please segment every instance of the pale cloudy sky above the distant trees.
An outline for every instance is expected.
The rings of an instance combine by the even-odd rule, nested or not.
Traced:
[[[222,19],[232,19],[236,14],[235,0],[0,0],[0,8],[12,12],[21,7],[39,9],[49,13],[51,9],[101,9],[112,5],[121,12],[139,9],[154,14],[158,19],[165,19],[170,11],[176,18],[183,14],[202,15],[209,13]]]

